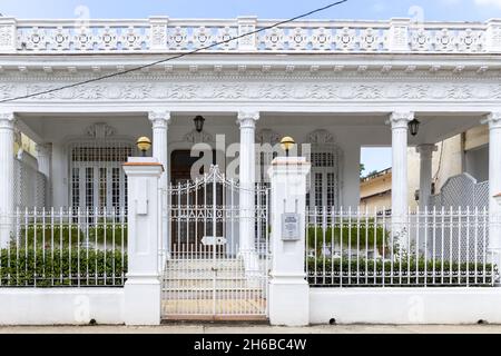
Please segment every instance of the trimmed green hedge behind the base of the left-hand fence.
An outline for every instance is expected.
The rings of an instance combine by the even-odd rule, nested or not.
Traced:
[[[72,248],[0,250],[1,286],[122,286],[127,254]]]

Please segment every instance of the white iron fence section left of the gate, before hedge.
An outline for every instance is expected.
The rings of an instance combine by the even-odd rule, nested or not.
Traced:
[[[24,209],[0,218],[0,287],[124,286],[125,210]]]

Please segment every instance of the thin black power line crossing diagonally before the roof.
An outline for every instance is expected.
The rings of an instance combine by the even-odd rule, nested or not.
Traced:
[[[296,16],[296,17],[291,18],[288,20],[279,21],[279,22],[276,22],[274,24],[271,24],[271,26],[267,26],[267,27],[263,27],[261,29],[256,29],[256,30],[250,31],[248,33],[243,33],[243,34],[239,34],[237,37],[229,38],[227,40],[223,40],[223,41],[215,42],[215,43],[212,43],[212,44],[208,44],[208,46],[205,46],[205,47],[200,47],[200,48],[197,48],[197,49],[195,49],[193,51],[189,51],[189,52],[186,52],[186,53],[176,55],[176,56],[173,56],[173,57],[169,57],[169,58],[165,58],[165,59],[161,59],[161,60],[154,61],[154,62],[148,63],[148,65],[134,67],[134,68],[130,68],[130,69],[127,69],[127,70],[114,72],[114,73],[101,76],[101,77],[94,78],[94,79],[88,79],[88,80],[85,80],[85,81],[75,82],[75,83],[67,85],[67,86],[61,86],[61,87],[53,88],[53,89],[48,89],[48,90],[45,90],[45,91],[39,91],[39,92],[26,95],[26,96],[19,96],[19,97],[2,99],[2,100],[0,100],[0,103],[12,102],[12,101],[23,100],[23,99],[30,99],[30,98],[35,98],[35,97],[39,97],[39,96],[43,96],[43,95],[61,91],[61,90],[65,90],[65,89],[81,87],[81,86],[85,86],[85,85],[88,85],[88,83],[92,83],[92,82],[96,82],[96,81],[101,81],[101,80],[106,80],[106,79],[110,79],[110,78],[115,78],[115,77],[119,77],[119,76],[125,76],[125,75],[128,75],[128,73],[131,73],[131,72],[140,71],[140,70],[146,69],[146,68],[155,67],[155,66],[158,66],[158,65],[161,65],[161,63],[175,60],[175,59],[179,59],[179,58],[183,58],[183,57],[186,57],[186,56],[198,53],[198,52],[207,50],[207,49],[212,49],[212,48],[220,46],[220,44],[226,44],[226,43],[233,42],[235,40],[239,40],[239,39],[248,37],[248,36],[253,36],[253,34],[266,31],[266,30],[271,30],[271,29],[274,29],[274,28],[279,27],[282,24],[294,22],[296,20],[306,18],[308,16],[312,16],[312,14],[315,14],[315,13],[318,13],[318,12],[323,12],[325,10],[328,10],[331,8],[334,8],[334,7],[338,6],[338,4],[342,4],[342,3],[347,2],[347,1],[348,0],[340,0],[340,1],[336,1],[336,2],[333,2],[333,3],[330,3],[330,4],[325,6],[325,7],[322,7],[322,8],[308,11],[306,13]]]

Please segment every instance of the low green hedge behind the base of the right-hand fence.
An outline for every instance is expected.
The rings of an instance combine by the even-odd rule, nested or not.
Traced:
[[[493,278],[497,280],[499,276],[498,267],[492,264],[451,264],[441,260],[433,264],[431,260],[425,263],[424,258],[393,263],[365,258],[308,258],[307,270],[308,281],[313,286],[432,286],[442,281],[448,285],[469,283],[473,286],[492,285]]]

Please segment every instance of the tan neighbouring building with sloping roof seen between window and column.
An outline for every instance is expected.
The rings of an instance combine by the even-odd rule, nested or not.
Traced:
[[[392,169],[385,169],[362,179],[361,209],[384,211],[392,206]]]

